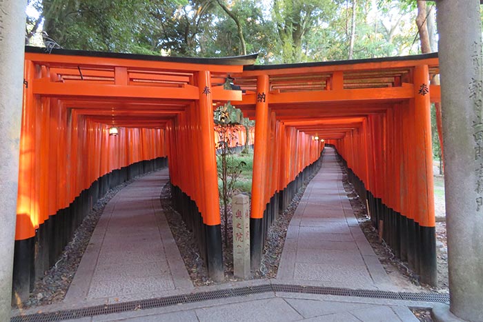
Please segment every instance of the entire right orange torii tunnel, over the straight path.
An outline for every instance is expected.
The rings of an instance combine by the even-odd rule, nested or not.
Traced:
[[[435,285],[430,104],[440,101],[440,87],[429,79],[438,73],[437,54],[425,54],[246,66],[232,75],[246,90],[235,105],[256,120],[253,268],[260,263],[273,209],[279,200],[286,206],[297,176],[311,170],[314,155],[304,154],[314,151],[312,138],[319,137],[346,161],[349,179],[368,200],[371,219],[396,256],[421,281]]]

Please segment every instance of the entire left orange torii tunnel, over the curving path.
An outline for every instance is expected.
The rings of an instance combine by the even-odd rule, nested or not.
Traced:
[[[109,188],[166,166],[213,279],[223,278],[213,107],[256,55],[185,59],[26,48],[14,296],[25,299]],[[213,103],[215,102],[215,103]],[[117,137],[109,129],[119,128]]]

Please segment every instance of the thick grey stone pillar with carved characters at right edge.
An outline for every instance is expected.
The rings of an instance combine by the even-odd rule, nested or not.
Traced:
[[[483,83],[480,0],[437,0],[450,310],[483,321]],[[448,312],[449,313],[449,312]]]

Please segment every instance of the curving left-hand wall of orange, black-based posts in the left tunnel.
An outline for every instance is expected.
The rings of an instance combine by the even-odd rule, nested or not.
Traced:
[[[24,78],[49,77],[26,61]],[[167,165],[160,129],[119,128],[86,119],[26,85],[21,122],[13,301],[26,299],[110,188]]]

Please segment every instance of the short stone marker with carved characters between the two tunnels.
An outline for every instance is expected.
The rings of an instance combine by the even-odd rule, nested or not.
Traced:
[[[250,276],[250,199],[237,194],[232,199],[233,212],[233,275]]]

